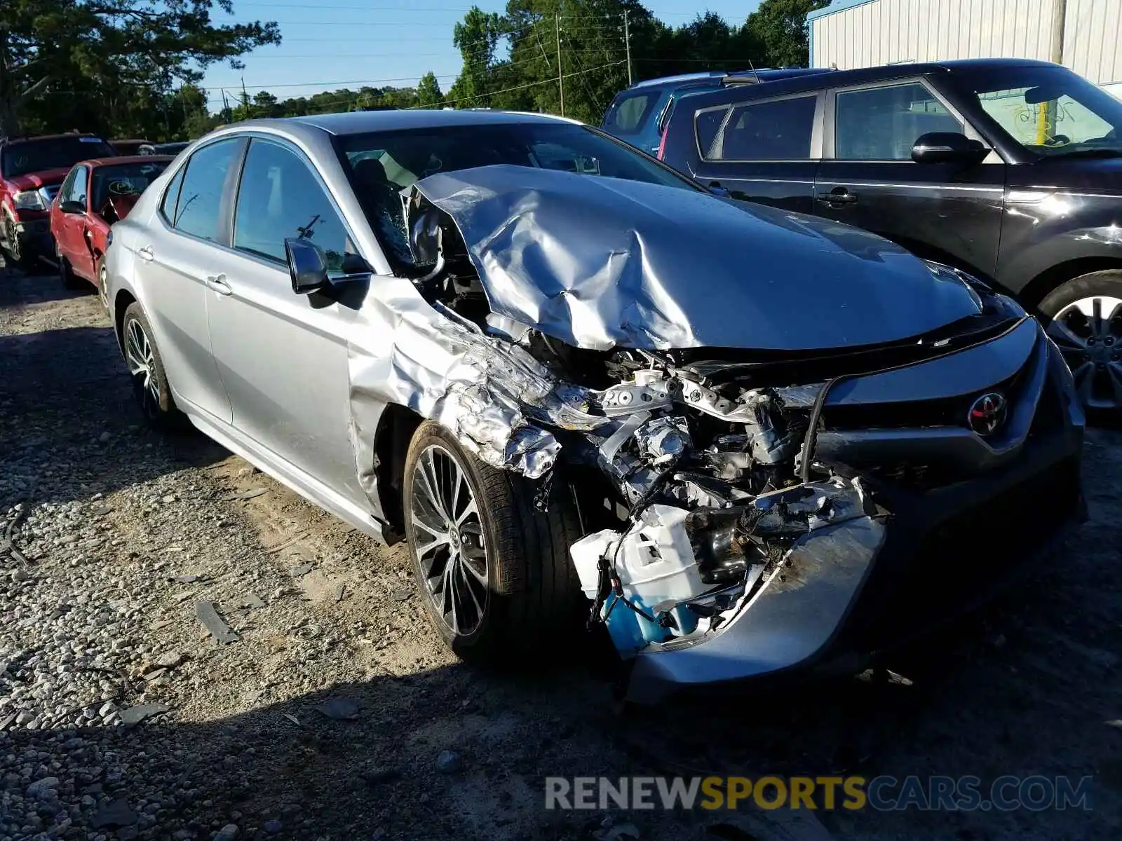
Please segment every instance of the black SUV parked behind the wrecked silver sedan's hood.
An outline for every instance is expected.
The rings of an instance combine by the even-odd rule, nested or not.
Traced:
[[[662,158],[1017,295],[1084,404],[1122,408],[1122,102],[1069,70],[972,59],[692,94]]]

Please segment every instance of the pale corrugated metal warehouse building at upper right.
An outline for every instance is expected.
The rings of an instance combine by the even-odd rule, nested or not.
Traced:
[[[1122,96],[1122,0],[835,0],[807,20],[813,67],[1039,58]]]

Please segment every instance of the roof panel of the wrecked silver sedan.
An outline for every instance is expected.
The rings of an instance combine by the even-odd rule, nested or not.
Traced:
[[[494,126],[515,122],[568,122],[577,123],[552,114],[525,113],[521,111],[479,110],[433,110],[398,109],[387,111],[349,111],[335,114],[310,114],[285,117],[272,120],[247,120],[229,126],[234,130],[252,130],[255,127],[273,128],[280,131],[298,126],[309,126],[331,135],[364,135],[368,131],[393,131],[395,129],[432,129],[453,126]]]

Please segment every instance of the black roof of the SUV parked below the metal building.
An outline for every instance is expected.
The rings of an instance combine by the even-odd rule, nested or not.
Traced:
[[[818,91],[822,87],[839,85],[865,84],[892,78],[908,78],[932,74],[953,74],[956,71],[986,71],[1000,67],[1059,67],[1050,62],[1039,62],[1032,58],[957,58],[947,62],[923,62],[914,64],[882,64],[876,67],[859,67],[848,71],[827,71],[825,73],[802,73],[776,78],[764,86],[754,84],[729,85],[720,91],[690,94],[690,103],[696,109],[708,105],[724,105],[743,99],[764,96],[782,96],[789,93]]]

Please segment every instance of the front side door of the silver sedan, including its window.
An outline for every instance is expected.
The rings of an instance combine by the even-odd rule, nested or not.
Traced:
[[[365,499],[350,443],[347,335],[356,315],[323,294],[297,295],[285,238],[309,239],[331,270],[355,253],[323,179],[304,155],[255,137],[246,153],[232,251],[209,295],[211,343],[236,431],[351,501]]]

